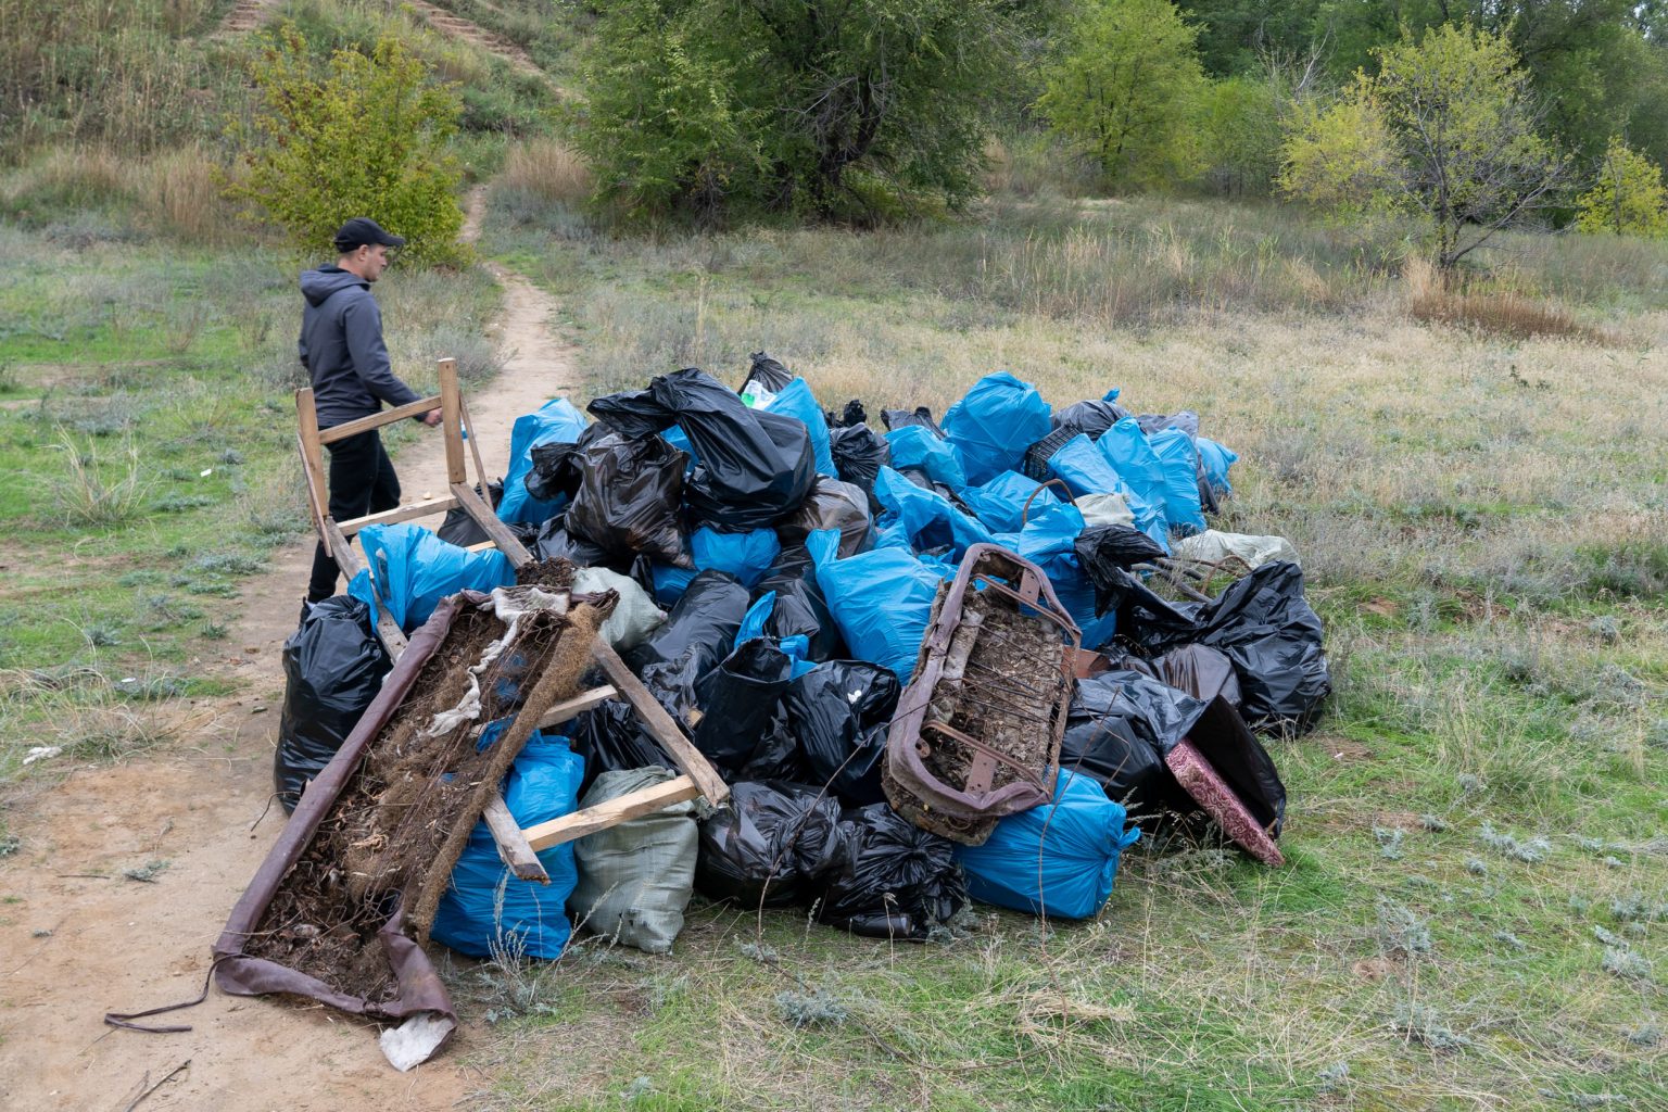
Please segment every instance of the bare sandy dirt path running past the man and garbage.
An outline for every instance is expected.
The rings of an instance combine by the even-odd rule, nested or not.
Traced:
[[[479,230],[482,197],[470,198]],[[570,348],[545,327],[554,302],[505,272],[497,327],[505,370],[470,397],[487,470],[502,475],[510,425],[575,382]],[[394,277],[392,280],[399,280]],[[437,353],[439,355],[439,353]],[[444,488],[437,435],[397,462],[407,497]],[[123,1109],[148,1074],[160,1087],[143,1112],[215,1109],[285,1112],[449,1109],[472,1085],[457,1065],[477,1032],[412,1074],[397,1074],[375,1034],[322,1007],[227,997],[155,1022],[183,1034],[145,1035],[102,1024],[105,1010],[140,1010],[193,997],[232,904],[284,824],[272,792],[272,749],[284,675],[279,654],[295,629],[310,545],[275,553],[244,585],[244,617],[225,660],[202,669],[249,685],[235,700],[178,710],[162,752],[72,774],[20,807],[22,849],[0,859],[0,1109]],[[27,812],[27,814],[25,814]],[[152,880],[125,869],[167,862]],[[148,1082],[147,1082],[148,1084]]]

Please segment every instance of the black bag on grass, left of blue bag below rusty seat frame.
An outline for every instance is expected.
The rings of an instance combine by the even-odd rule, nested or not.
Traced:
[[[924,942],[967,904],[954,844],[886,804],[846,812],[846,854],[829,874],[817,917],[871,939]]]

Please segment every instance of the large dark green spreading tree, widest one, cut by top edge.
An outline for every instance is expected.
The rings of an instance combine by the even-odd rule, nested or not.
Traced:
[[[620,0],[584,62],[597,200],[874,218],[972,195],[1024,5]]]

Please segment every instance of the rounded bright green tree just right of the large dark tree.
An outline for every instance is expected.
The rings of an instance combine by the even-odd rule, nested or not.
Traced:
[[[1206,88],[1196,35],[1169,0],[1093,0],[1071,20],[1037,110],[1114,187],[1193,177]]]

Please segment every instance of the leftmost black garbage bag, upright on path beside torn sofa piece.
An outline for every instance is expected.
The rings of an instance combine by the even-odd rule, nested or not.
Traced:
[[[337,595],[307,609],[284,642],[284,714],[272,782],[285,814],[359,725],[394,662],[370,629],[370,607]]]

